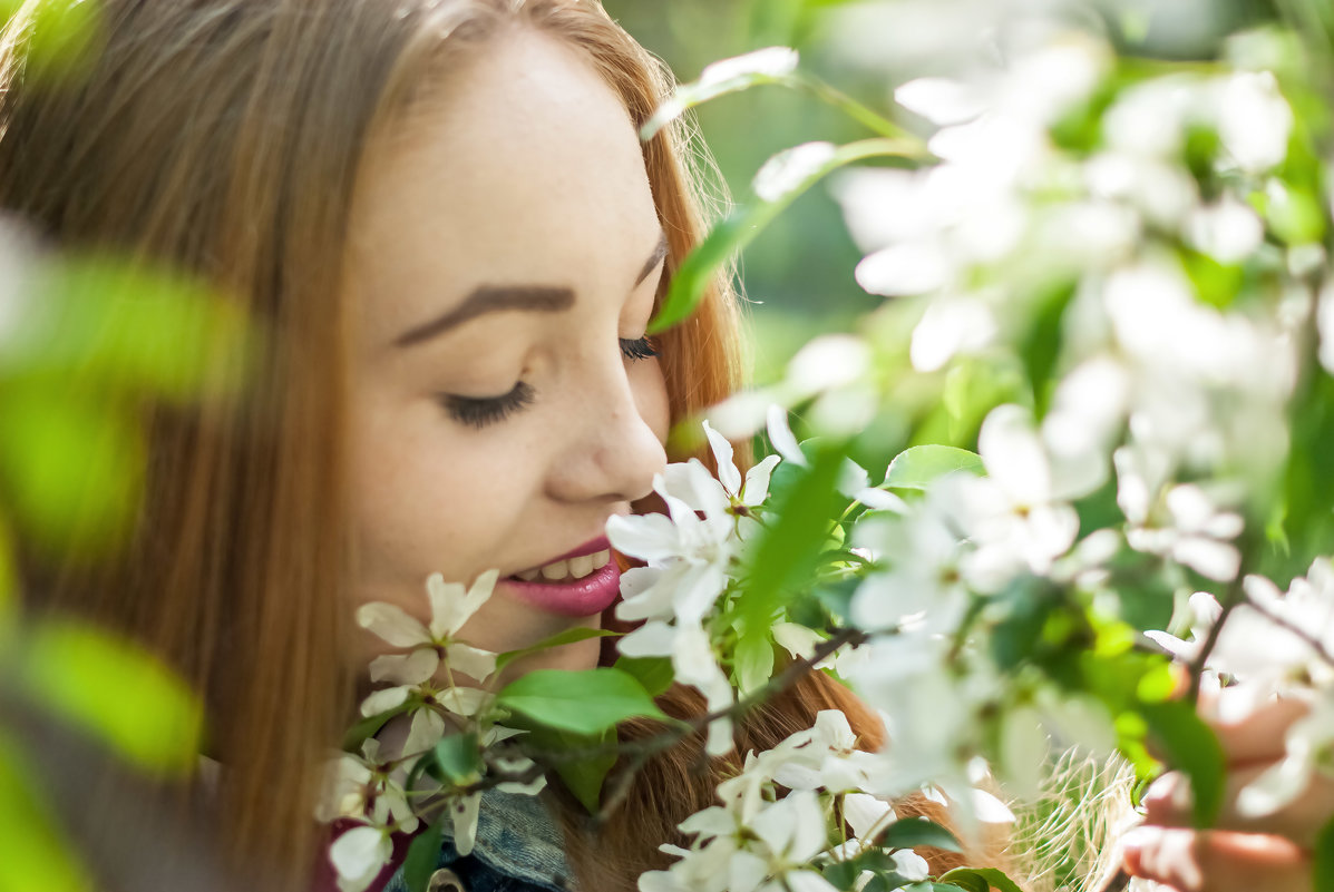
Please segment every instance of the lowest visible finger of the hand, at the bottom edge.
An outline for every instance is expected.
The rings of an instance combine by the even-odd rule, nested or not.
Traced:
[[[1129,873],[1182,892],[1313,892],[1310,859],[1277,836],[1139,827],[1122,852]]]

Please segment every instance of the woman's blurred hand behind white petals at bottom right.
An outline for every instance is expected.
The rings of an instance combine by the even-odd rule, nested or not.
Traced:
[[[1190,791],[1173,772],[1145,797],[1146,820],[1122,840],[1126,871],[1182,892],[1311,892],[1315,835],[1334,816],[1334,781],[1314,776],[1306,792],[1273,815],[1237,812],[1237,792],[1282,759],[1289,727],[1306,704],[1281,700],[1215,731],[1229,759],[1218,828],[1190,829]]]

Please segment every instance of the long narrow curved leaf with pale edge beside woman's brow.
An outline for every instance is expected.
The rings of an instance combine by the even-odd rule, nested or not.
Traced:
[[[671,275],[667,297],[648,324],[656,335],[690,317],[699,305],[714,275],[738,251],[748,245],[798,196],[840,167],[868,157],[920,157],[922,148],[912,140],[871,139],[840,145],[828,159],[784,188],[772,201],[742,207],[704,236]]]

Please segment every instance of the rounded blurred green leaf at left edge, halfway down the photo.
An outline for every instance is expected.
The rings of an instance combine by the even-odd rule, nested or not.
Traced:
[[[144,472],[140,432],[113,404],[0,385],[0,493],[45,547],[101,553],[129,532]]]

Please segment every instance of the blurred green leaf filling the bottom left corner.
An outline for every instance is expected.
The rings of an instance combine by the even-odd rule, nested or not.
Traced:
[[[91,877],[32,785],[35,776],[20,745],[0,733],[0,892],[91,892]]]

